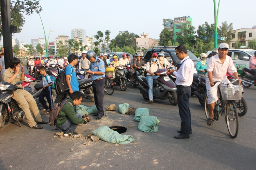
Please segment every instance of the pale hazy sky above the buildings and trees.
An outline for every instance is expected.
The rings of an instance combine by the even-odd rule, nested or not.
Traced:
[[[227,21],[233,23],[234,30],[252,28],[256,25],[252,17],[255,15],[253,4],[253,0],[221,0],[218,25]],[[76,28],[86,30],[89,37],[99,30],[110,30],[113,39],[119,31],[128,30],[137,35],[145,32],[150,38],[159,38],[163,18],[190,16],[196,30],[205,21],[214,23],[213,0],[41,0],[40,5],[46,37],[50,30],[54,31],[49,42],[58,35],[71,37],[71,30]],[[44,37],[37,13],[25,16],[25,20],[22,32],[13,38],[31,44],[31,39]]]

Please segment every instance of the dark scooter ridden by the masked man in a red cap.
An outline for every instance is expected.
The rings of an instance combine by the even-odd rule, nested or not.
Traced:
[[[176,105],[177,94],[176,94],[176,84],[166,75],[166,69],[159,69],[155,73],[155,75],[160,75],[157,79],[154,79],[153,82],[153,98],[154,99],[169,99],[169,102],[172,105]],[[139,79],[140,93],[142,94],[145,100],[149,100],[148,98],[148,84],[146,77],[141,77]]]

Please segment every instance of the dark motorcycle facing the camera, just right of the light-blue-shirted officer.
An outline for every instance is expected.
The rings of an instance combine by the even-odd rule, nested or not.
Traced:
[[[113,65],[113,64],[112,64]],[[115,86],[120,86],[122,91],[125,91],[128,86],[127,78],[125,77],[125,71],[123,66],[116,66],[115,67],[115,78],[113,80]]]

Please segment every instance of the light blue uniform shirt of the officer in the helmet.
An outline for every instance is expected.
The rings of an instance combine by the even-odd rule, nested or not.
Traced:
[[[96,72],[96,71],[105,72],[104,62],[100,58],[96,57],[95,61],[90,64],[90,70],[93,72]],[[105,77],[105,74],[103,75],[91,74],[91,80],[93,81],[100,79],[102,77]]]

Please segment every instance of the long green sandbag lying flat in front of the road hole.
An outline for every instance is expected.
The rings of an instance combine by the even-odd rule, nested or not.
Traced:
[[[131,135],[121,135],[116,131],[113,131],[108,126],[101,126],[100,128],[93,131],[93,134],[97,136],[100,140],[109,143],[118,143],[120,145],[125,145],[131,143],[134,139]]]

